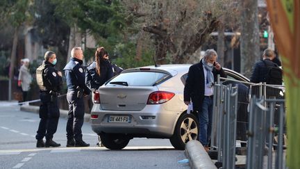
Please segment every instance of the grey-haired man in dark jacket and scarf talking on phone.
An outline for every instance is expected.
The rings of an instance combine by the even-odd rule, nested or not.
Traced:
[[[213,85],[217,74],[226,77],[221,65],[216,61],[217,52],[213,49],[206,50],[201,61],[190,67],[184,88],[185,104],[188,105],[192,101],[194,111],[198,111],[199,140],[205,147],[208,147],[212,126]]]

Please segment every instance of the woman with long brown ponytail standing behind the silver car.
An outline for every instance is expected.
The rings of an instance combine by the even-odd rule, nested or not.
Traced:
[[[109,56],[103,47],[97,48],[95,61],[87,67],[85,84],[94,92],[113,77],[113,66],[108,61]]]

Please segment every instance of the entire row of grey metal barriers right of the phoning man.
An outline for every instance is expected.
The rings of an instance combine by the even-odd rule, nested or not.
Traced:
[[[235,168],[236,140],[239,140],[242,146],[247,145],[247,165],[252,162],[254,165],[248,166],[248,168],[260,168],[261,163],[264,163],[264,166],[267,163],[268,168],[272,168],[273,147],[276,148],[278,154],[276,154],[275,166],[283,166],[280,159],[283,159],[283,133],[285,133],[284,90],[284,86],[218,78],[214,90],[216,97],[213,102],[210,146],[213,150],[218,151],[217,161],[222,163],[223,168]],[[253,101],[254,98],[256,98],[255,101]],[[251,100],[251,104],[249,104],[249,100]],[[259,104],[253,104],[258,101]],[[255,105],[260,105],[259,108],[265,113],[254,113],[255,115],[253,115],[253,111],[258,110]],[[278,145],[274,144],[274,131],[277,128],[279,131],[282,128],[282,134],[278,134]],[[253,129],[258,129],[255,133],[260,133],[260,136],[252,138]],[[262,134],[260,131],[264,133]],[[269,146],[269,156],[263,160],[262,151],[265,150],[266,145]],[[253,151],[250,151],[252,149]]]

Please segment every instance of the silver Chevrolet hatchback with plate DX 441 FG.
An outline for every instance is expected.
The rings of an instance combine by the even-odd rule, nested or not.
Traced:
[[[183,88],[190,65],[160,65],[124,70],[94,95],[92,130],[108,149],[120,150],[135,137],[167,138],[178,150],[197,140],[197,114],[186,113]],[[224,68],[228,78],[242,75]]]

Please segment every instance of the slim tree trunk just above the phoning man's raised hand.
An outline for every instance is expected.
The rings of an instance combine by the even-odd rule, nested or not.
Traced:
[[[220,23],[218,28],[218,40],[217,40],[217,61],[224,66],[224,51],[225,51],[225,42],[224,42],[224,24]]]

